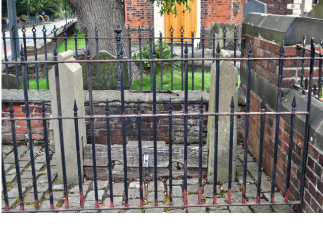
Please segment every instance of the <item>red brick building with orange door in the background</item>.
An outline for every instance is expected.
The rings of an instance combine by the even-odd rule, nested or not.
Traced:
[[[149,0],[124,0],[126,26],[130,26],[132,35],[136,36],[138,26],[142,29],[142,36],[148,36],[149,27],[154,28],[154,35],[169,36],[169,29],[174,28],[174,37],[180,37],[180,29],[183,25],[184,37],[191,37],[191,31],[195,31],[195,37],[200,37],[202,26],[209,32],[211,22],[230,23],[240,25],[243,21],[243,5],[250,0],[194,0],[189,2],[192,10],[188,13],[182,6],[177,8],[177,16],[160,16],[160,7],[151,4]],[[268,14],[306,16],[311,10],[313,0],[261,0],[267,4]]]

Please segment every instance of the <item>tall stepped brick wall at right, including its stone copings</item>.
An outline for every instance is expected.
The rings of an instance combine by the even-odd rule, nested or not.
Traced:
[[[296,39],[296,35],[291,33],[298,30],[297,34],[302,36],[306,34],[308,38],[314,35],[314,39],[319,41],[318,35],[321,33],[317,28],[312,27],[317,20],[308,18],[294,18],[274,15],[251,14],[253,22],[247,19],[242,25],[242,57],[247,57],[249,41],[252,42],[253,57],[279,57],[281,43],[285,43],[285,56],[297,56],[298,50],[296,43],[301,42],[302,38]],[[250,16],[249,16],[250,17]],[[277,25],[279,18],[280,25]],[[307,24],[309,22],[312,24]],[[302,22],[305,22],[306,25]],[[304,25],[303,25],[304,24]],[[323,24],[323,22],[320,22]],[[301,28],[300,26],[307,26]],[[311,28],[308,28],[311,26]],[[321,25],[320,25],[321,26]],[[321,35],[323,36],[323,34]],[[275,41],[274,41],[275,40]],[[279,74],[278,61],[259,61],[252,63],[251,70],[251,100],[250,111],[260,111],[262,97],[265,97],[267,104],[266,111],[276,110],[276,94]],[[309,62],[305,62],[309,67]],[[291,111],[293,97],[296,97],[296,111],[306,110],[306,96],[301,91],[293,90],[293,84],[299,83],[301,61],[287,60],[284,62],[283,69],[283,98],[281,111]],[[247,63],[241,63],[241,86],[246,92],[247,82]],[[308,77],[308,69],[305,69],[305,77]],[[314,81],[318,78],[318,68],[315,64]],[[305,174],[305,192],[303,211],[305,212],[323,212],[323,103],[312,98],[310,133],[308,144],[308,159]],[[269,176],[272,175],[273,155],[274,155],[274,136],[275,136],[275,116],[265,117],[264,143],[263,143],[263,169]],[[249,125],[249,151],[259,159],[259,130],[260,116],[251,116]],[[299,187],[302,179],[301,166],[303,155],[305,131],[305,116],[296,116],[295,132],[293,140],[292,168],[291,168],[291,186],[290,200],[299,199]],[[278,143],[278,161],[276,172],[276,183],[283,193],[286,187],[287,157],[289,148],[290,116],[280,118],[279,143]]]

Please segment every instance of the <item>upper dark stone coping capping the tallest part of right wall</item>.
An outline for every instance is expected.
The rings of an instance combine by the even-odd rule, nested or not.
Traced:
[[[303,36],[314,37],[319,43],[323,36],[323,20],[307,17],[249,13],[242,23],[242,33],[277,44],[301,43]],[[309,41],[309,40],[308,40]]]

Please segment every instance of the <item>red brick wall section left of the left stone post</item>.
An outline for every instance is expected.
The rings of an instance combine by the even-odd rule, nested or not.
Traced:
[[[50,104],[45,104],[46,113],[51,113]],[[2,116],[9,117],[10,104],[2,103]],[[24,103],[13,103],[14,108],[14,117],[26,117],[25,113],[25,104]],[[40,117],[41,116],[41,103],[29,103],[29,111],[31,117]],[[16,138],[17,141],[25,141],[28,140],[28,129],[26,120],[16,120]],[[49,121],[47,122],[47,131],[48,131],[48,139],[49,139]],[[12,133],[11,133],[11,121],[3,120],[2,121],[2,141],[10,142],[12,141]],[[31,133],[33,140],[39,141],[44,139],[44,131],[42,127],[41,120],[32,120],[31,121]]]

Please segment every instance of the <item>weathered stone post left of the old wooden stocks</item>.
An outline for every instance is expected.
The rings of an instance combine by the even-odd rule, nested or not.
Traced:
[[[60,53],[58,61],[66,59],[74,59],[73,52],[68,50]],[[83,78],[82,67],[78,63],[60,63],[59,64],[59,77],[60,77],[60,93],[61,105],[63,116],[73,116],[74,99],[78,106],[78,115],[85,115],[84,108],[84,91],[83,91]],[[51,101],[51,113],[57,116],[57,93],[55,81],[55,67],[49,71],[49,90]],[[83,150],[86,145],[86,130],[85,119],[79,119],[79,143],[80,143],[80,156],[83,177]],[[63,182],[61,147],[60,147],[60,134],[58,120],[52,120],[50,123],[53,130],[53,140],[55,143],[55,162],[57,163],[58,180]],[[77,169],[77,156],[76,156],[76,141],[75,141],[75,127],[73,119],[63,119],[63,136],[64,136],[64,150],[65,150],[65,165],[67,171],[67,182],[78,183],[78,169]],[[52,139],[52,138],[51,138]]]

